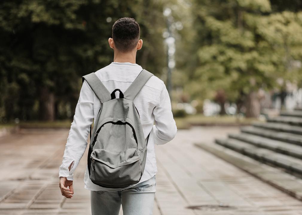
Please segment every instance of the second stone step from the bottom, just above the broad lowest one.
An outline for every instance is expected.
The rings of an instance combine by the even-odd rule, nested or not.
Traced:
[[[280,154],[268,149],[259,148],[235,139],[216,139],[215,142],[221,146],[242,153],[243,155],[251,157],[262,163],[269,163],[271,165],[284,168],[286,171],[302,175],[302,160],[300,159]]]

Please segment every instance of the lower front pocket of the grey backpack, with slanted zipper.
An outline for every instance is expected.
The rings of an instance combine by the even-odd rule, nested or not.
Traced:
[[[135,148],[127,149],[123,153],[95,149],[90,159],[90,179],[97,185],[124,188],[140,181],[140,157]]]

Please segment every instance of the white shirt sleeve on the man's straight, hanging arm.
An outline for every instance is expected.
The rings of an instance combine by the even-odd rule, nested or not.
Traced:
[[[87,147],[90,125],[93,122],[94,93],[87,81],[84,80],[75,115],[69,130],[62,165],[59,167],[59,177],[73,180],[73,172],[78,166]],[[72,163],[73,162],[73,163]],[[70,171],[69,166],[72,164]]]

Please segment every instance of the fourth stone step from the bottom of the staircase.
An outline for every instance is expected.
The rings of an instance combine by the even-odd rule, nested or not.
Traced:
[[[241,132],[248,134],[255,134],[257,136],[270,138],[273,140],[284,141],[291,144],[302,146],[302,135],[291,134],[287,132],[278,132],[273,130],[267,130],[252,126],[245,126],[241,128]]]

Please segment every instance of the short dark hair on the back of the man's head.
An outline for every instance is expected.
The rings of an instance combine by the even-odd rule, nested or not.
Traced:
[[[140,39],[140,26],[133,18],[120,18],[113,24],[112,39],[119,51],[130,52]]]

